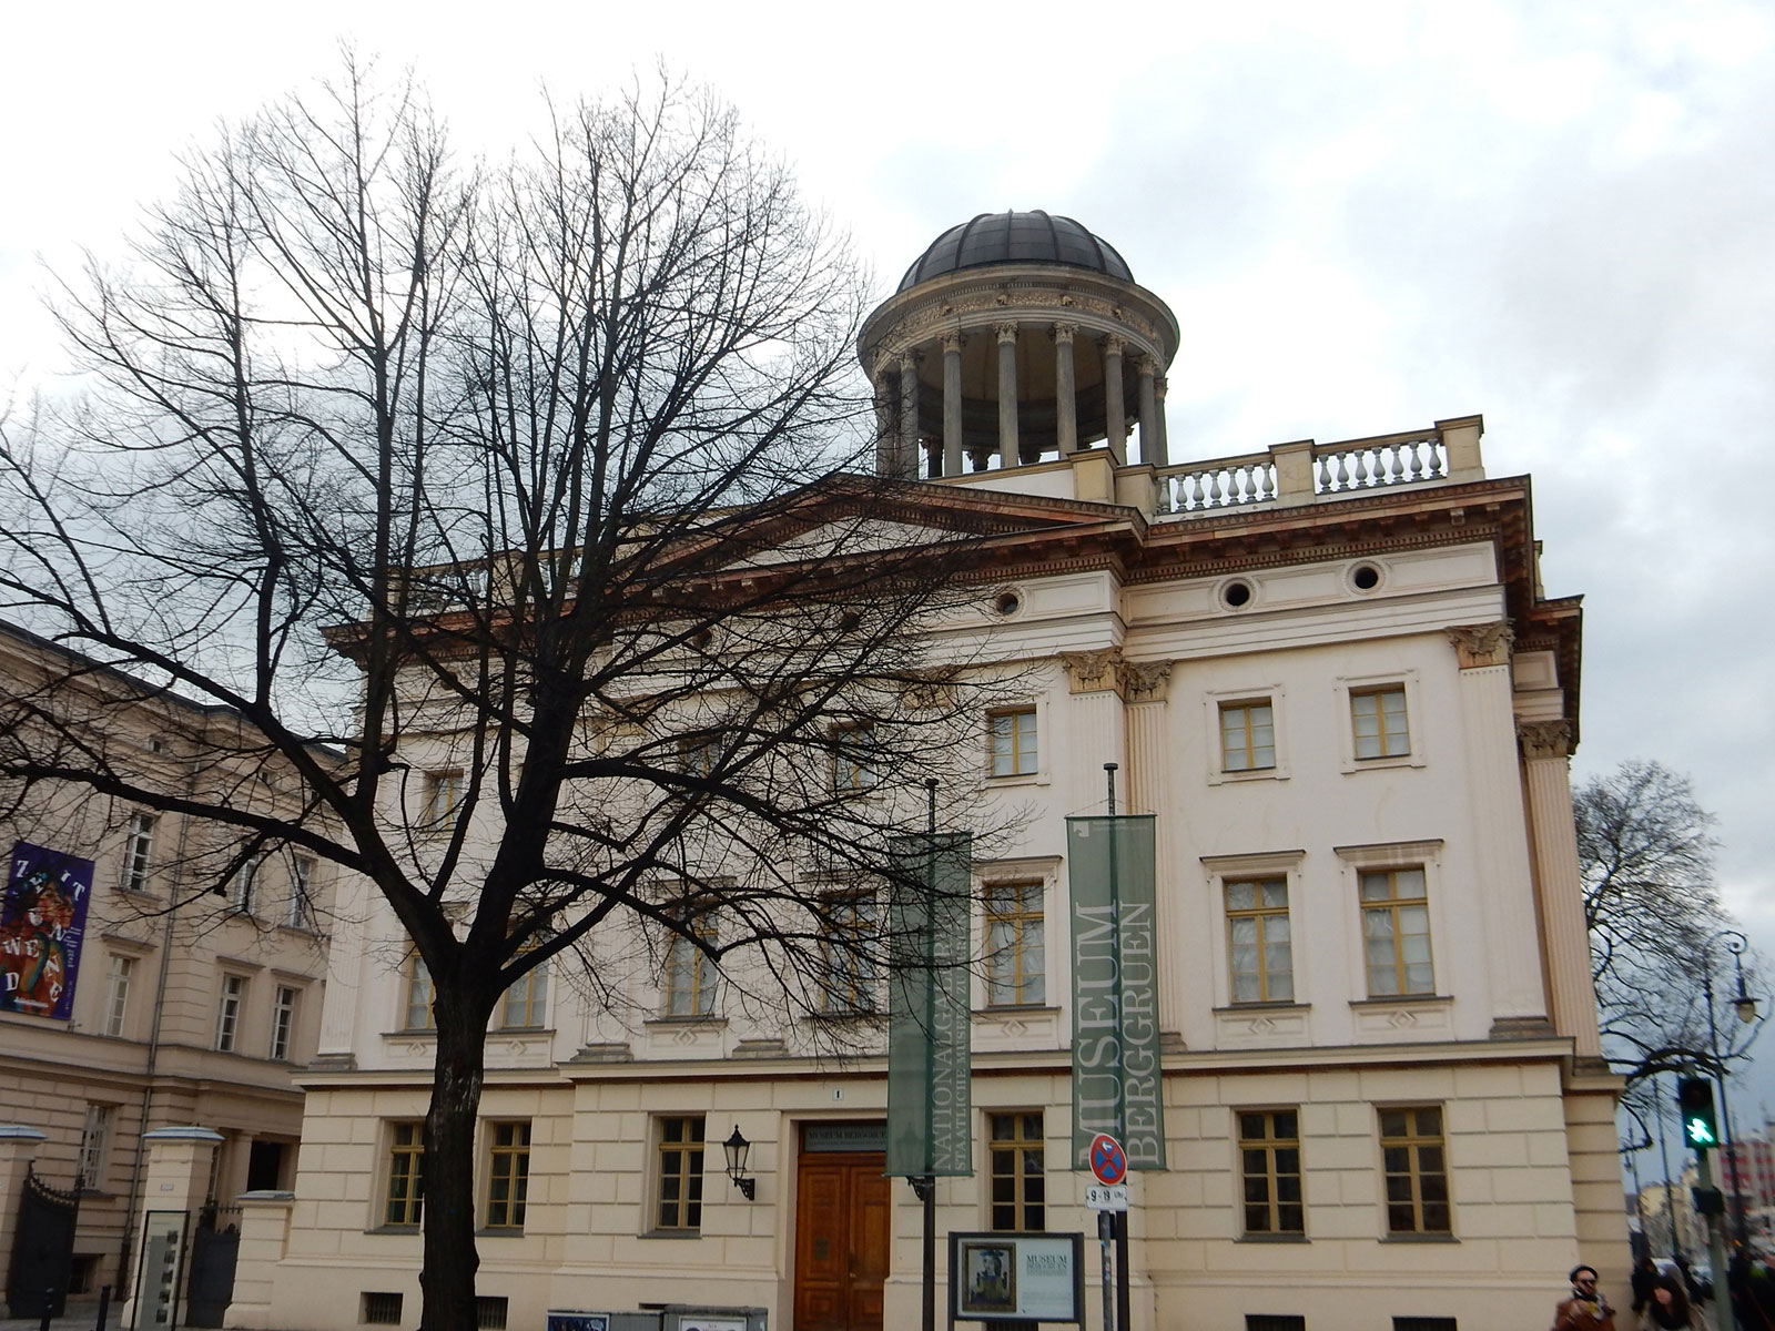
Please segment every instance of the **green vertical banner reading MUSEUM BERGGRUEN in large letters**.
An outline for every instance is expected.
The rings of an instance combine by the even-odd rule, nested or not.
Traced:
[[[1072,902],[1072,1168],[1108,1132],[1164,1168],[1154,816],[1067,818]]]

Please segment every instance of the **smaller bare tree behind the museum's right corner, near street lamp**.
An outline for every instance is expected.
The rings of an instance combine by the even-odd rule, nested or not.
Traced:
[[[1629,1083],[1708,1067],[1713,1035],[1700,976],[1724,958],[1731,926],[1713,877],[1713,815],[1688,777],[1628,761],[1573,795],[1590,973],[1603,1045]],[[1732,1017],[1734,985],[1716,985],[1720,1059],[1741,1058],[1754,1028]],[[1629,1107],[1654,1113],[1629,1093]]]

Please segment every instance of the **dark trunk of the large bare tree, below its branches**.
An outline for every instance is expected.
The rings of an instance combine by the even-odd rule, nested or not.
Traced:
[[[476,1331],[474,1127],[486,1063],[486,1013],[437,990],[437,1063],[426,1114],[424,1308],[419,1331]]]

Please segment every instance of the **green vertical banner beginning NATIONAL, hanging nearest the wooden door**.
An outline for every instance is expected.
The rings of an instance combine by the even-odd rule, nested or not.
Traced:
[[[969,832],[895,841],[888,910],[889,1177],[974,1171],[971,902]]]

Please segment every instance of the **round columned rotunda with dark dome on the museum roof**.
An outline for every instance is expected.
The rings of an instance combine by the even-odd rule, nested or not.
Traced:
[[[982,213],[950,227],[863,325],[882,476],[937,479],[1104,449],[1166,465],[1177,318],[1070,217]],[[966,467],[964,467],[966,458]]]

